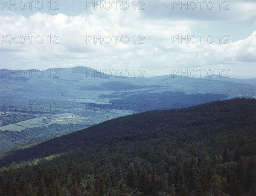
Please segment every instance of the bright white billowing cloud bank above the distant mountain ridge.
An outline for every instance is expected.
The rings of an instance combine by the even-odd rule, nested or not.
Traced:
[[[204,14],[211,18],[204,19],[204,23],[200,16],[206,10],[196,12],[198,16],[195,10],[182,16],[181,11],[162,9],[165,5],[165,8],[170,6],[166,3],[150,2],[145,10],[91,8],[73,16],[36,12],[25,17],[6,12],[0,18],[1,68],[47,69],[78,65],[96,69],[142,68],[145,76],[171,74],[171,69],[187,68],[229,68],[233,73],[231,77],[239,76],[241,72],[246,75],[248,68],[250,73],[255,73],[256,31],[250,32],[244,40],[228,44],[223,43],[224,35],[221,35],[221,44],[217,36],[213,36],[213,43],[206,40],[207,35],[202,38],[202,43],[197,34],[194,36],[196,42],[188,40],[194,35],[192,26],[209,26],[210,21],[220,20],[220,15],[225,20],[255,17],[252,1],[245,2],[243,6],[232,2],[231,11],[208,10],[208,15]],[[12,38],[24,35],[26,43],[20,43],[24,41],[21,36],[20,42],[12,40],[10,44],[9,35]],[[44,38],[42,43],[36,43],[37,35],[40,35],[38,42]],[[102,40],[95,43],[95,38],[101,36]],[[180,36],[188,38],[180,43]],[[29,38],[32,43],[29,43]]]

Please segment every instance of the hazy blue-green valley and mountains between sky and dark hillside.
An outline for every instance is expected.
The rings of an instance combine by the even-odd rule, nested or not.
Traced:
[[[55,70],[58,77],[53,74],[36,77],[35,69],[29,70],[26,77],[19,77],[9,74],[14,71],[1,69],[2,150],[17,145],[17,142],[10,142],[13,138],[23,138],[19,139],[22,141],[19,145],[25,145],[30,140],[58,136],[57,125],[61,125],[61,134],[64,134],[74,126],[77,128],[72,131],[77,131],[108,119],[144,111],[186,108],[234,97],[256,97],[254,79],[179,75],[105,77],[99,71],[81,66],[50,70]],[[49,73],[49,70],[43,73]],[[2,114],[4,112],[9,114]],[[39,131],[44,127],[49,128],[48,134]],[[17,131],[15,136],[12,131]],[[29,132],[33,135],[30,139]],[[24,136],[28,138],[24,139]]]

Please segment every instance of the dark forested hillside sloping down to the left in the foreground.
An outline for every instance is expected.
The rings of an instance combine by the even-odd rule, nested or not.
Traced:
[[[256,99],[147,111],[9,152],[0,195],[254,196],[255,149]]]

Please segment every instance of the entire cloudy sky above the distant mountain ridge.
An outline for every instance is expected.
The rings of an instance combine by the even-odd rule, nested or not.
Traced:
[[[255,0],[9,3],[1,0],[1,68],[143,69],[145,77],[212,69],[256,77]]]

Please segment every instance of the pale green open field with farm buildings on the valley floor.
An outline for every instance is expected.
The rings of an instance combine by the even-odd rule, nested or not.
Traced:
[[[22,114],[21,114],[22,115]],[[73,116],[73,117],[72,117]],[[37,118],[17,122],[14,124],[1,126],[0,130],[5,131],[22,131],[25,128],[35,128],[41,126],[51,125],[53,123],[57,124],[76,124],[79,122],[88,122],[90,117],[79,116],[73,113],[63,113],[63,114],[53,114],[53,115],[42,115]]]

